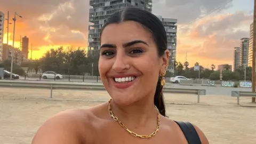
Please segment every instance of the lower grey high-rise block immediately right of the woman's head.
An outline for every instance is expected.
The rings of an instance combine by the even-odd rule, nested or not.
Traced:
[[[173,71],[173,63],[176,60],[177,19],[157,17],[163,22],[167,35],[167,49],[170,51],[169,67],[167,70]]]

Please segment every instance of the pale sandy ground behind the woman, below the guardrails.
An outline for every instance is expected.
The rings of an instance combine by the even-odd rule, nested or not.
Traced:
[[[50,116],[72,108],[89,108],[107,101],[105,91],[0,89],[0,143],[31,143],[38,127]],[[255,144],[256,105],[251,98],[165,94],[167,114],[202,129],[210,143]]]

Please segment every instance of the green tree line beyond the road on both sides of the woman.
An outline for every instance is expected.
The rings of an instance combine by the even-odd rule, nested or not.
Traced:
[[[64,50],[63,47],[58,49],[51,49],[47,51],[42,58],[29,62],[22,62],[21,66],[13,65],[13,73],[18,75],[25,75],[30,71],[35,73],[43,73],[44,71],[55,71],[56,73],[63,75],[99,75],[98,70],[99,53],[87,54],[84,49],[68,47]],[[0,67],[4,67],[10,71],[11,61],[6,60],[0,63]],[[215,65],[211,65],[210,68],[204,68],[200,66],[200,70],[194,70],[195,66],[199,66],[196,62],[190,67],[189,62],[177,62],[174,61],[174,74],[172,71],[167,71],[166,77],[174,76],[185,76],[188,78],[196,79],[205,78],[211,80],[220,79],[220,71],[215,70]],[[26,70],[21,67],[27,67]],[[246,68],[246,79],[251,80],[252,68]],[[243,67],[231,71],[230,66],[226,65],[225,70],[222,71],[222,79],[225,81],[229,80],[243,80],[244,69]]]

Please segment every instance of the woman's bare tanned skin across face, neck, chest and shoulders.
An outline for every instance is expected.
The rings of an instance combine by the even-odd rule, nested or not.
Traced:
[[[125,45],[138,40],[144,43]],[[100,76],[113,99],[113,114],[133,132],[154,132],[157,126],[154,94],[158,76],[169,64],[169,51],[158,57],[157,46],[149,31],[137,22],[126,21],[108,25],[103,30],[100,53]],[[130,87],[117,89],[113,80],[117,74],[133,74],[137,78]],[[209,143],[197,126],[195,129],[202,143]],[[179,126],[164,116],[160,118],[160,129],[154,137],[133,137],[109,116],[105,102],[90,109],[66,110],[54,115],[38,129],[32,143],[186,144],[187,140]]]

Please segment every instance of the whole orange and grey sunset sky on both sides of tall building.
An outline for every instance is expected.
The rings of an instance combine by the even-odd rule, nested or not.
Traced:
[[[154,14],[178,19],[178,61],[185,62],[187,52],[190,66],[195,62],[204,67],[233,64],[233,48],[239,46],[240,38],[249,37],[253,0],[228,1],[153,0]],[[28,36],[29,45],[33,43],[33,59],[59,46],[87,47],[89,0],[0,0],[0,4],[0,11],[6,15],[10,11],[10,19],[14,12],[23,17],[16,22],[14,46],[19,47],[20,35]],[[220,6],[221,9],[203,17]],[[201,19],[195,21],[198,18]],[[6,43],[6,28],[4,33]],[[12,34],[10,25],[10,45]]]

